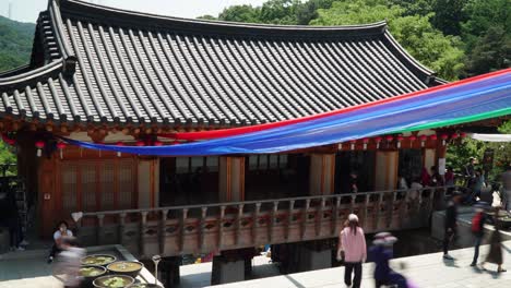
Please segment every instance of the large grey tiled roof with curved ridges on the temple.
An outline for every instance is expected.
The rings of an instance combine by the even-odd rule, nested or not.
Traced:
[[[0,115],[246,125],[356,106],[439,81],[396,44],[384,22],[239,24],[76,0],[50,0],[41,12],[31,67],[0,75]]]

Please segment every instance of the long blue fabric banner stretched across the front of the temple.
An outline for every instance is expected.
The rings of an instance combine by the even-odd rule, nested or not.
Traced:
[[[436,89],[417,97],[275,129],[224,139],[167,146],[115,146],[64,139],[85,148],[139,155],[262,154],[307,148],[381,134],[428,123],[444,123],[482,113],[509,113],[511,71]]]

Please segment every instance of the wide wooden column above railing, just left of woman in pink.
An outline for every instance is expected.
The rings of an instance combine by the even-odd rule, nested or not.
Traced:
[[[309,194],[331,195],[334,193],[335,154],[310,155]]]

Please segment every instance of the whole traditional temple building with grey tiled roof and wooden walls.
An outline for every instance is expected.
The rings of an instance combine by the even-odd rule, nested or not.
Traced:
[[[78,225],[86,243],[123,243],[142,257],[176,256],[335,237],[341,221],[333,230],[311,228],[308,236],[305,219],[318,219],[309,218],[307,209],[335,206],[335,197],[349,192],[353,173],[358,192],[395,190],[399,176],[412,180],[423,168],[438,166],[447,142],[457,141],[463,129],[424,129],[275,154],[186,157],[87,149],[59,137],[118,146],[180,145],[186,141],[167,135],[314,116],[444,83],[395,41],[385,22],[242,24],[49,0],[37,21],[29,64],[0,74],[0,130],[17,152],[19,175],[37,207],[41,237],[58,220],[82,212]],[[318,204],[312,197],[297,204],[325,195],[333,202]],[[282,206],[272,206],[280,199],[297,199],[283,217],[288,227],[301,219],[301,235],[294,238],[292,227],[257,243],[243,242],[249,237],[245,226],[258,233],[284,220]],[[337,200],[338,208],[344,200]],[[97,218],[87,221],[87,213]],[[264,213],[271,221],[243,216]],[[385,218],[389,211],[366,213],[375,213],[377,231],[378,216]],[[216,214],[221,220],[209,218]],[[337,219],[340,214],[329,215]],[[285,240],[276,240],[281,232]]]

